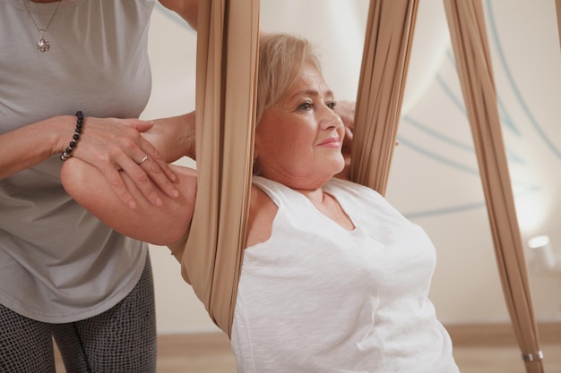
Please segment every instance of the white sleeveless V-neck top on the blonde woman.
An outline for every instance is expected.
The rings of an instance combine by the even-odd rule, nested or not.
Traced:
[[[254,183],[279,209],[272,237],[245,251],[231,337],[238,372],[459,372],[427,299],[436,253],[418,225],[352,182],[324,187],[352,232],[298,191]]]

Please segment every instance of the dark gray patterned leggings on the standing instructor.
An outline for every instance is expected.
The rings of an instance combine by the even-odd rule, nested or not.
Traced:
[[[0,305],[0,372],[54,372],[53,338],[67,373],[155,372],[156,319],[150,259],[133,291],[93,318],[47,324]]]

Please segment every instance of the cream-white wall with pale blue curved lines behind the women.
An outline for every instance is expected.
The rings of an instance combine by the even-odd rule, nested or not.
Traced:
[[[261,22],[264,30],[314,41],[326,81],[339,98],[354,100],[367,3],[262,0]],[[548,233],[561,247],[561,61],[555,2],[484,4],[522,238]],[[195,41],[193,30],[157,8],[151,26],[153,93],[143,117],[194,108]],[[431,299],[439,317],[444,323],[507,322],[442,0],[420,2],[398,137],[387,198],[436,244]],[[168,250],[151,247],[151,255],[160,333],[216,330]],[[561,320],[561,276],[533,266],[529,276],[537,318]]]

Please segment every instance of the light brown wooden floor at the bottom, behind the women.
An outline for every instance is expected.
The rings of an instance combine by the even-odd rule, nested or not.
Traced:
[[[448,327],[462,373],[525,373],[509,326]],[[561,326],[540,326],[545,373],[561,372]],[[542,333],[543,332],[543,333]],[[65,369],[57,356],[56,372]],[[225,335],[160,335],[158,373],[236,373]]]

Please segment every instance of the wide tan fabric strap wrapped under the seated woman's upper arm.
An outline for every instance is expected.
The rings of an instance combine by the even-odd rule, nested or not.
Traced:
[[[175,250],[182,276],[230,335],[246,242],[255,129],[259,0],[199,4],[194,216]]]

